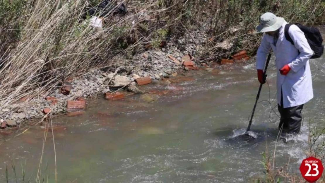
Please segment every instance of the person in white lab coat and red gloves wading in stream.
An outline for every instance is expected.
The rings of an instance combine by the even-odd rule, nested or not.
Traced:
[[[294,45],[291,44],[285,37],[286,24],[283,18],[267,12],[256,26],[257,32],[263,33],[256,57],[257,77],[261,84],[266,82],[263,70],[270,49],[276,56],[279,130],[282,137],[300,132],[303,106],[314,97],[309,67],[313,50],[304,32],[294,24],[288,31]]]

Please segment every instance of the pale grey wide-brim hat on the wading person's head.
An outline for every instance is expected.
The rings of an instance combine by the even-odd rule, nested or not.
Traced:
[[[260,24],[256,26],[256,31],[265,33],[278,30],[284,23],[282,17],[277,17],[273,13],[267,12],[260,17]]]

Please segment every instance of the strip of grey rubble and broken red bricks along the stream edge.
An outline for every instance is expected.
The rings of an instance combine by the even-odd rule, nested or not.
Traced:
[[[180,40],[181,42],[181,40]],[[50,93],[31,98],[25,95],[12,108],[3,108],[0,114],[0,134],[8,134],[4,129],[19,128],[28,120],[42,121],[48,115],[79,115],[87,108],[86,101],[91,98],[121,99],[134,93],[145,93],[139,87],[150,83],[170,84],[170,78],[185,76],[187,72],[204,70],[213,72],[220,67],[246,62],[250,57],[243,50],[222,59],[220,63],[198,60],[192,54],[197,52],[195,44],[188,44],[185,51],[177,45],[166,43],[156,50],[137,54],[132,60],[124,61],[115,72],[104,68],[94,69],[79,77],[68,77]],[[169,46],[170,45],[170,46]]]

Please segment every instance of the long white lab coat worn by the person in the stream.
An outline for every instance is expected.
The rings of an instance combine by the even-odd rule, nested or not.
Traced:
[[[305,104],[313,95],[312,77],[309,67],[309,58],[313,55],[304,33],[296,26],[289,28],[289,35],[294,41],[294,46],[284,36],[284,22],[279,30],[279,38],[276,46],[273,37],[264,34],[261,45],[257,50],[256,69],[264,70],[266,57],[272,48],[276,56],[275,64],[277,71],[277,101],[281,102],[281,87],[283,92],[283,107],[293,107]],[[300,54],[298,54],[298,50]],[[290,72],[285,76],[280,74],[279,69],[289,64]]]

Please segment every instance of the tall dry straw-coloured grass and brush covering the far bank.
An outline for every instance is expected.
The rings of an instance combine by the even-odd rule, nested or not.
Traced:
[[[189,33],[203,40],[197,43],[201,45],[199,59],[218,60],[238,49],[254,54],[260,35],[251,32],[266,11],[311,25],[325,21],[321,0],[283,0],[280,4],[274,0],[122,2],[129,13],[107,15],[103,30],[97,32],[79,23],[87,3],[95,0],[1,1],[0,110],[21,105],[17,101],[26,95],[26,102],[46,96],[68,76],[78,77],[105,66],[111,71],[129,66],[125,58],[149,44],[154,48],[161,40],[174,42]],[[204,36],[194,34],[196,30]],[[233,46],[224,50],[220,43]]]

